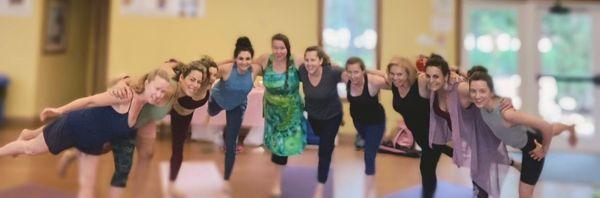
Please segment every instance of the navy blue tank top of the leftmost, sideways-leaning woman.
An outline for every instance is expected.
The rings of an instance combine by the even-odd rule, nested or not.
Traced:
[[[75,147],[89,154],[100,154],[104,143],[115,138],[127,138],[135,128],[127,122],[129,112],[120,114],[111,106],[92,107],[68,113],[65,122]]]

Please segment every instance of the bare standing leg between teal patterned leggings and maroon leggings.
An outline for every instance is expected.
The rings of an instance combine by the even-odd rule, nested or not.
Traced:
[[[138,130],[136,147],[137,165],[134,169],[135,182],[133,186],[133,192],[143,192],[142,189],[146,189],[148,174],[152,158],[154,157],[154,140],[156,139],[156,124],[151,122],[146,126]],[[144,197],[143,193],[137,193],[137,196]]]

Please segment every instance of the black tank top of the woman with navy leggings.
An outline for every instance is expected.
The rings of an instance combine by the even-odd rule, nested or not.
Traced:
[[[379,103],[379,94],[369,94],[369,81],[365,74],[365,85],[360,96],[352,96],[350,93],[350,81],[346,84],[346,93],[350,102],[350,115],[355,123],[360,124],[382,124],[385,123],[385,111]]]

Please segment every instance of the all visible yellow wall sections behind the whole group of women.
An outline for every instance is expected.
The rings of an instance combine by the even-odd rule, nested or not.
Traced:
[[[35,2],[35,1],[34,1]],[[85,95],[89,71],[87,50],[90,43],[88,1],[71,1],[69,46],[66,54],[46,55],[41,51],[43,2],[36,1],[32,14],[24,18],[0,16],[0,72],[12,80],[8,90],[7,116],[32,117],[43,106],[53,106]],[[431,29],[433,0],[381,0],[382,65],[394,55],[411,59],[417,54],[444,52],[455,62],[455,33],[440,34]],[[291,39],[292,52],[318,42],[318,3],[305,0],[227,0],[206,1],[201,18],[159,18],[122,15],[120,1],[112,0],[109,24],[107,77],[122,73],[143,74],[168,58],[190,61],[201,54],[217,61],[231,58],[235,39],[249,36],[257,54],[270,51],[269,38],[277,32]],[[445,46],[424,46],[420,35],[445,36]],[[88,69],[89,70],[89,69]],[[88,75],[85,75],[85,74]],[[43,100],[42,100],[43,99]],[[388,130],[398,114],[391,107],[391,93],[381,100],[388,116]],[[346,126],[354,131],[344,105]]]

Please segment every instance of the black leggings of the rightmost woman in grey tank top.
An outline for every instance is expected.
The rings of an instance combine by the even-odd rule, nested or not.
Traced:
[[[533,140],[537,140],[538,143],[542,143],[544,137],[539,131],[527,132],[527,144],[521,149],[523,151],[522,166],[521,166],[521,182],[534,186],[542,174],[544,168],[544,159],[537,161],[529,155],[529,152],[535,149],[535,143]]]

